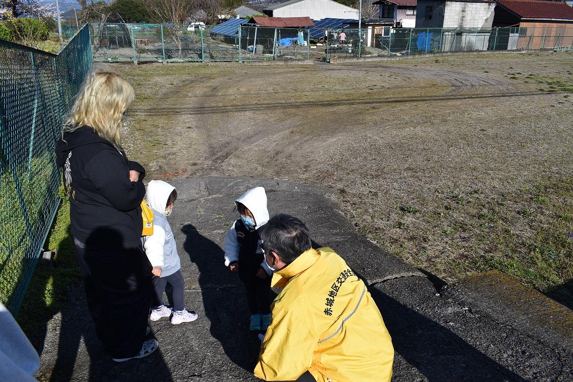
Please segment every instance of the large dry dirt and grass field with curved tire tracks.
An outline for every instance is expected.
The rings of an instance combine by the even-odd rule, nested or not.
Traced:
[[[323,184],[360,232],[452,280],[573,278],[573,54],[113,65],[151,178]],[[272,210],[272,206],[270,206]],[[277,211],[274,211],[277,212]]]

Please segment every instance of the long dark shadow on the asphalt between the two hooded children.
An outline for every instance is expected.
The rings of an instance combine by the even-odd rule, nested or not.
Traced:
[[[221,247],[199,234],[193,225],[187,224],[181,231],[185,234],[183,248],[199,269],[199,288],[211,336],[221,343],[234,364],[252,373],[261,342],[256,332],[249,331],[245,287],[238,274],[225,266]]]

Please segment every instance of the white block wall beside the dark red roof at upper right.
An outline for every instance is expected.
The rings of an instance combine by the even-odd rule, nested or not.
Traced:
[[[496,3],[446,1],[445,28],[490,28]]]

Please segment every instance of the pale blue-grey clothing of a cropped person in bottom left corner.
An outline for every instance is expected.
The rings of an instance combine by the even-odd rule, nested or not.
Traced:
[[[40,357],[1,302],[0,328],[0,381],[35,382]]]

